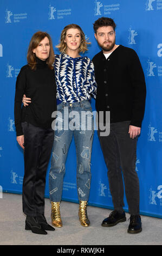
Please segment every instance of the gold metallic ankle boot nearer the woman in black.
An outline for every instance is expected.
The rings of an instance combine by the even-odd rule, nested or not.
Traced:
[[[51,202],[51,221],[52,224],[57,227],[62,227],[61,215],[60,215],[60,202]]]

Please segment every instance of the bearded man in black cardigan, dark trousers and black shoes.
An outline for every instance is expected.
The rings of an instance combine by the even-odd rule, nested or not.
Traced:
[[[139,215],[139,179],[135,171],[137,139],[145,111],[146,85],[137,53],[115,44],[115,22],[101,17],[94,22],[95,38],[102,51],[93,58],[98,84],[96,111],[110,111],[108,136],[98,130],[103,156],[108,168],[109,188],[114,211],[102,222],[112,227],[126,221],[124,184],[130,223],[128,233],[142,230]],[[103,125],[106,126],[106,114]],[[100,128],[100,125],[98,126]],[[123,178],[124,182],[123,182]]]

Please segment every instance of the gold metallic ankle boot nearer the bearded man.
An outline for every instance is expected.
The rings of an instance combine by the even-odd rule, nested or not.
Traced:
[[[87,216],[87,201],[79,201],[79,220],[83,227],[89,227],[90,221]]]

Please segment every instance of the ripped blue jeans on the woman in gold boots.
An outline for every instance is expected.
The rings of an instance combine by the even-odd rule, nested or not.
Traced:
[[[77,196],[79,200],[88,201],[94,135],[94,120],[89,101],[62,102],[57,105],[55,138],[49,172],[49,198],[52,202],[61,201],[65,163],[73,135],[77,159]]]

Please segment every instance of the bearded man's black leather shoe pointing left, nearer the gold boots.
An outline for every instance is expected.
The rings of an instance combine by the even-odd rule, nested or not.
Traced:
[[[113,227],[119,222],[126,221],[126,214],[122,212],[122,214],[116,210],[112,211],[108,218],[105,218],[102,222],[102,227]]]

